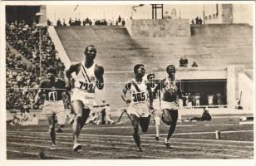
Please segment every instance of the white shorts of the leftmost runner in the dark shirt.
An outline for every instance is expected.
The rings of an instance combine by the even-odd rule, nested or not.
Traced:
[[[42,115],[56,115],[57,123],[59,125],[65,125],[66,112],[65,112],[63,101],[62,100],[58,100],[58,101],[45,100],[42,107]]]

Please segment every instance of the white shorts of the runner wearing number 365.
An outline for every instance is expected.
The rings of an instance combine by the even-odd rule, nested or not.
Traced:
[[[127,109],[129,115],[133,114],[140,117],[149,117],[150,115],[150,108],[147,103],[131,103]]]

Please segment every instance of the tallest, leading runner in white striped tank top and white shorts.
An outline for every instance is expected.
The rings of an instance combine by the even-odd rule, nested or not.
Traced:
[[[96,47],[93,45],[87,46],[84,54],[85,61],[71,65],[66,71],[66,82],[68,86],[71,86],[71,74],[73,72],[76,73],[73,93],[71,95],[71,106],[75,115],[72,126],[73,151],[81,149],[81,144],[78,143],[78,136],[93,108],[95,88],[97,87],[99,90],[102,90],[104,87],[104,69],[94,62],[96,58]]]

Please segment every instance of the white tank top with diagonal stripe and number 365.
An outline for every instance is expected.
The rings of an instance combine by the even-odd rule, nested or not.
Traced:
[[[137,84],[135,79],[132,79],[135,85],[138,87],[136,88],[135,85],[131,84],[130,86],[130,95],[131,95],[131,102],[130,105],[137,105],[137,104],[147,104],[149,93],[147,90],[147,86],[145,81],[143,80],[140,84]]]

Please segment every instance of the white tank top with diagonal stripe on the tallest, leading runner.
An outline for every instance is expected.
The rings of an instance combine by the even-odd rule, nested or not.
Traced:
[[[81,61],[80,71],[76,75],[74,90],[80,90],[86,93],[95,93],[96,76],[94,74],[96,63],[90,68],[86,68],[85,61]]]

